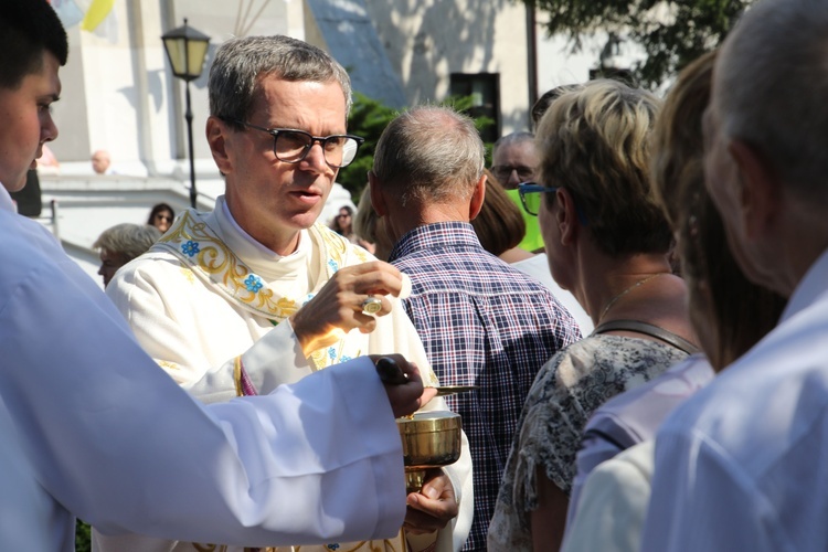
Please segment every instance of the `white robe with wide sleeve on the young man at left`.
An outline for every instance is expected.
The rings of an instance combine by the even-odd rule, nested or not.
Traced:
[[[107,532],[248,545],[396,534],[402,447],[368,359],[200,406],[11,210],[0,187],[0,550],[74,550],[73,513]]]

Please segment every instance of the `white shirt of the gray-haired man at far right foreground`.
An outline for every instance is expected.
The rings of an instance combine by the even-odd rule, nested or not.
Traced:
[[[828,252],[657,435],[645,551],[828,550]]]

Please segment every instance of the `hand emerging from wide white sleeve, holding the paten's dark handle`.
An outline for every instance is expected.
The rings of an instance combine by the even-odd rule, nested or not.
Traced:
[[[423,388],[416,364],[402,354],[370,354],[385,385],[394,417],[407,416],[422,408],[437,395],[434,388]],[[450,484],[449,484],[450,485]]]

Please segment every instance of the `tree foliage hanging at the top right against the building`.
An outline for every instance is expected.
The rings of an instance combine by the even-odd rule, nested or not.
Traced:
[[[630,67],[643,86],[658,87],[691,61],[719,45],[753,0],[523,0],[549,13],[550,35],[583,40],[608,33],[640,44],[647,57]]]

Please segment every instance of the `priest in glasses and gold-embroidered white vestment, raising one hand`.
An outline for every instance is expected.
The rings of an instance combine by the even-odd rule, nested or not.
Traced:
[[[308,64],[315,72],[304,72]],[[183,212],[107,288],[141,346],[203,402],[266,393],[364,354],[401,353],[426,385],[436,385],[399,305],[405,278],[315,223],[360,140],[346,135],[350,84],[341,66],[294,39],[234,39],[216,54],[210,96],[208,141],[225,195],[211,213]],[[367,314],[369,306],[379,311]],[[446,406],[435,399],[426,408]],[[463,443],[460,459],[437,475],[436,487],[408,496],[405,531],[396,539],[301,551],[459,550],[474,500],[465,436]],[[103,552],[243,550],[97,532],[94,542]]]

